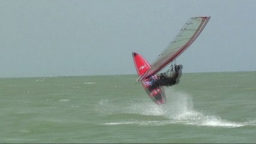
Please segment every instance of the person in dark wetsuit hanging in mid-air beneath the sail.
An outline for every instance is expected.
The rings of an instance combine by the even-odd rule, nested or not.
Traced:
[[[177,85],[180,82],[182,68],[183,68],[182,65],[174,65],[174,68],[171,65],[171,74],[168,74],[168,72],[160,73],[159,75],[157,75],[157,79],[150,77],[149,78],[151,81],[150,89],[154,89],[159,86]]]

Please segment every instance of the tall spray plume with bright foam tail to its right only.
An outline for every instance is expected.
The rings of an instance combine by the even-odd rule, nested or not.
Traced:
[[[169,103],[164,105],[165,115],[172,121],[180,124],[199,125],[209,127],[243,127],[241,122],[231,122],[222,119],[219,116],[206,115],[198,112],[193,107],[192,97],[185,92],[176,92],[168,89],[166,95],[169,97]]]

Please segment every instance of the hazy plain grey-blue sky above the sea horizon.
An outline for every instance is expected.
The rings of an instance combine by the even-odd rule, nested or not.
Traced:
[[[256,70],[256,1],[0,1],[0,77],[136,74],[184,23],[211,16],[184,73]]]

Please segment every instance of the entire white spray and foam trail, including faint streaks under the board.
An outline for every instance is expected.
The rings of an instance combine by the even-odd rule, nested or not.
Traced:
[[[148,120],[148,121],[117,121],[106,122],[103,125],[168,125],[168,124],[184,124],[184,125],[198,125],[207,127],[244,127],[246,125],[256,125],[256,121],[249,122],[233,122],[222,119],[215,115],[206,115],[203,112],[198,112],[193,107],[192,97],[185,92],[175,92],[174,90],[167,89],[166,95],[168,102],[166,104],[157,106],[154,103],[130,103],[126,106],[112,106],[108,100],[99,102],[104,106],[104,113],[118,114],[129,113],[143,116],[163,116],[161,120]],[[102,110],[99,110],[99,112]]]

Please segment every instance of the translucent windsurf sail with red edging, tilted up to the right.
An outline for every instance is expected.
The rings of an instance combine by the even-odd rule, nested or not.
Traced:
[[[183,28],[181,28],[178,35],[171,41],[171,43],[163,50],[157,59],[151,64],[151,68],[147,70],[141,77],[146,79],[153,74],[162,70],[170,62],[174,61],[184,50],[187,49],[197,39],[198,35],[203,31],[210,17],[192,17],[190,18]]]

